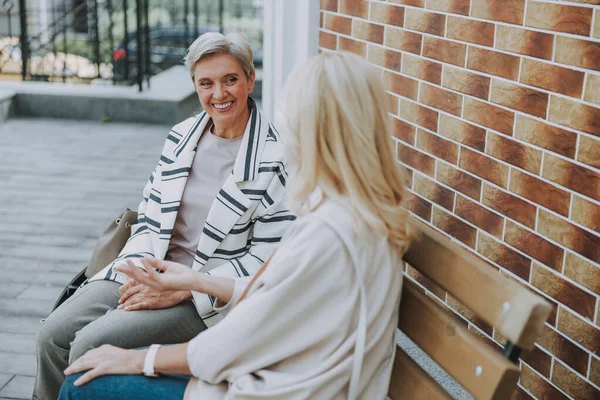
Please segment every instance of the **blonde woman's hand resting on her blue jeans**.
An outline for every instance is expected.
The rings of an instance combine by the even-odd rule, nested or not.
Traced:
[[[147,350],[125,350],[105,344],[77,359],[65,370],[65,375],[88,371],[75,381],[75,386],[81,386],[102,375],[138,375],[144,368],[146,352]]]

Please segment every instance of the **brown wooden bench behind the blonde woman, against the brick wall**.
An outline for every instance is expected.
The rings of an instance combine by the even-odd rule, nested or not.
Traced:
[[[434,229],[417,222],[421,236],[404,261],[421,280],[447,292],[479,321],[506,338],[504,352],[467,329],[467,324],[434,296],[404,279],[398,327],[477,399],[509,399],[519,380],[519,356],[533,349],[551,306],[540,296]],[[496,348],[494,348],[496,347]],[[401,348],[397,348],[389,397],[452,397]]]

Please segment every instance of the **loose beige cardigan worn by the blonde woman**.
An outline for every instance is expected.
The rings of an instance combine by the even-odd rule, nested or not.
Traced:
[[[313,198],[313,205],[319,199]],[[395,354],[400,255],[353,225],[332,200],[298,218],[249,295],[236,285],[228,315],[188,346],[198,378],[191,398],[345,399],[359,315],[350,253],[325,218],[348,232],[367,293],[366,351],[359,398],[385,399]],[[367,233],[365,235],[365,233]],[[233,307],[235,305],[235,307]]]

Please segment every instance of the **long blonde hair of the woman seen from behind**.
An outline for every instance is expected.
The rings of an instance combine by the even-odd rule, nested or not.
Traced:
[[[380,75],[352,53],[325,53],[290,74],[283,99],[292,210],[299,212],[319,187],[356,221],[406,249],[412,236],[402,208],[406,176],[395,159]]]

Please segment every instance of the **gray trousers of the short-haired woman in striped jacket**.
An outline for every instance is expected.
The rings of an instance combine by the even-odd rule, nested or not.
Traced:
[[[162,310],[117,310],[120,286],[91,282],[46,319],[37,337],[34,399],[55,400],[65,368],[90,349],[183,343],[206,329],[191,300]]]

